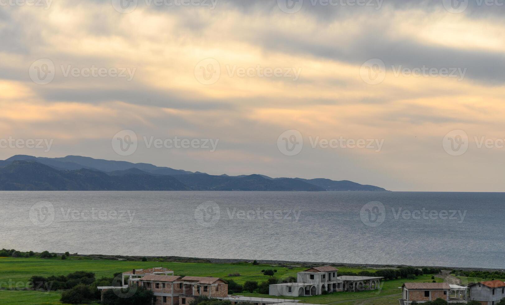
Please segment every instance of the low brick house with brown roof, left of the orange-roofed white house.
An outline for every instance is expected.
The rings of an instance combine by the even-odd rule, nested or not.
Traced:
[[[449,301],[450,286],[447,283],[404,283],[401,288],[400,304],[424,303],[437,298]]]

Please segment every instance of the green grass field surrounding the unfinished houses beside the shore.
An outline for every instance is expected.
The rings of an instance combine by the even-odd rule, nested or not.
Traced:
[[[175,275],[212,276],[233,279],[239,284],[252,280],[262,282],[268,279],[261,273],[263,269],[276,269],[279,279],[288,276],[296,277],[296,273],[304,270],[302,267],[273,267],[270,265],[252,265],[248,263],[237,264],[208,264],[208,263],[176,263],[176,262],[130,262],[112,260],[92,260],[89,258],[37,259],[37,258],[0,258],[0,304],[61,304],[60,292],[40,291],[13,291],[6,288],[21,289],[32,275],[51,276],[67,275],[75,271],[94,272],[96,278],[103,276],[112,277],[116,272],[125,272],[131,269],[167,267],[175,271]],[[360,272],[362,270],[374,271],[370,268],[339,267],[339,272]],[[240,273],[240,276],[228,277],[228,274]],[[437,281],[442,281],[437,278]],[[297,297],[301,302],[316,304],[390,304],[400,296],[400,287],[407,280],[383,281],[380,290],[361,292],[335,292],[327,295]],[[410,282],[431,282],[431,275],[419,276]],[[269,297],[258,293],[240,293],[248,296]],[[286,297],[288,298],[288,297]]]

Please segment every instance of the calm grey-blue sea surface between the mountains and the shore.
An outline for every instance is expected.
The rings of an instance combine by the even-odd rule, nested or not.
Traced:
[[[505,268],[505,193],[0,192],[0,248]]]

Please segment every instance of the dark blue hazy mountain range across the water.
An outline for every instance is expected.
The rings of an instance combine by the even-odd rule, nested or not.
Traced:
[[[386,191],[347,180],[218,176],[147,163],[25,155],[0,160],[0,190]]]

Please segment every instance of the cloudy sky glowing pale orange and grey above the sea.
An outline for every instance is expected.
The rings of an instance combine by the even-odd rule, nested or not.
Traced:
[[[0,159],[504,191],[504,3],[0,0]]]

